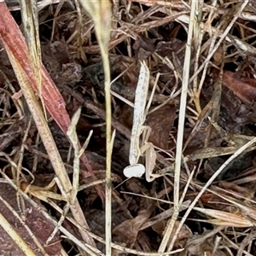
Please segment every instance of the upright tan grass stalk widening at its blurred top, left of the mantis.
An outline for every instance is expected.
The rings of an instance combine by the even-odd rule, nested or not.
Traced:
[[[106,254],[111,255],[111,208],[112,208],[112,181],[111,181],[111,155],[113,148],[113,141],[111,137],[111,78],[110,78],[110,66],[108,60],[108,44],[110,40],[110,28],[111,28],[111,3],[107,1],[82,1],[84,9],[86,9],[92,19],[95,22],[96,37],[101,49],[102,62],[104,68],[105,77],[105,101],[106,101],[106,220],[105,220],[105,232],[106,232]]]

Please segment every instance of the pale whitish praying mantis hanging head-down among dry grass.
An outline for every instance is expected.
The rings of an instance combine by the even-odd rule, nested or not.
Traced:
[[[152,173],[155,166],[156,153],[154,151],[153,143],[148,142],[151,128],[143,125],[149,108],[149,104],[146,107],[149,78],[150,73],[148,67],[145,61],[143,61],[141,63],[134,102],[133,125],[131,129],[131,144],[129,152],[130,166],[125,167],[124,175],[125,177],[142,177],[146,172],[146,180],[148,182],[152,182],[155,177],[158,177]],[[143,143],[140,145],[140,137],[142,134]],[[138,163],[139,158],[143,156],[143,154],[146,156],[145,166]]]

